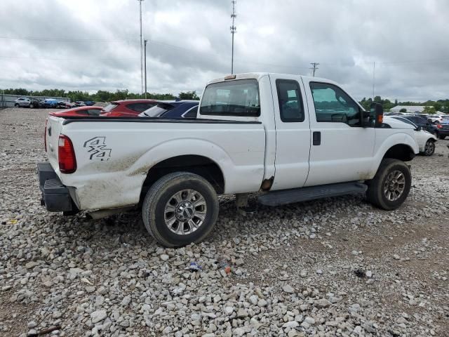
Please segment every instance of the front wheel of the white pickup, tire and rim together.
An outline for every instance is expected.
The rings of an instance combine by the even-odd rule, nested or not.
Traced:
[[[398,159],[383,159],[373,180],[368,182],[366,197],[371,204],[387,211],[397,209],[406,200],[412,185],[408,166]]]

